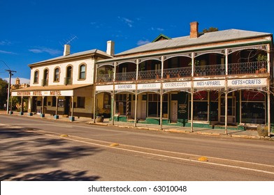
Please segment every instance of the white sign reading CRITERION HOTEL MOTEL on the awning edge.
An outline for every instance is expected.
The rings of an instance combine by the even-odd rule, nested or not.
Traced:
[[[59,91],[13,91],[12,96],[73,96],[73,90]]]

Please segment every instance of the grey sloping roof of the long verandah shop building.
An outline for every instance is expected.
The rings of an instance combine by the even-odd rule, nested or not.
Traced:
[[[116,54],[115,57],[138,54],[143,52],[160,51],[171,48],[186,48],[193,46],[201,46],[213,42],[228,42],[234,40],[245,40],[251,38],[261,38],[262,41],[271,41],[268,36],[272,37],[271,33],[261,33],[256,31],[244,31],[238,29],[229,29],[224,31],[215,31],[210,33],[200,34],[198,38],[189,38],[189,36],[182,36],[157,42],[150,42],[125,52]],[[254,41],[255,42],[255,41]]]

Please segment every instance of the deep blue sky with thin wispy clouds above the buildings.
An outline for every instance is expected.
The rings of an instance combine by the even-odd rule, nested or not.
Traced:
[[[274,33],[274,1],[94,1],[0,0],[0,78],[15,70],[21,84],[30,78],[29,64],[89,49],[115,54],[157,38],[189,36],[189,23],[199,31],[241,29]]]

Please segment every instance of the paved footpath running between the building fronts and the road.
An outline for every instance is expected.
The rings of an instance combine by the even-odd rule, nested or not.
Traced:
[[[6,111],[1,110],[0,114],[6,114]],[[10,115],[10,114],[6,114]],[[57,120],[63,121],[67,123],[84,123],[87,125],[104,125],[104,126],[115,126],[115,127],[124,127],[124,128],[132,128],[139,130],[154,130],[154,131],[163,131],[163,132],[175,132],[175,133],[183,133],[183,134],[203,134],[208,136],[215,137],[234,137],[234,138],[245,138],[245,139],[265,139],[274,141],[274,136],[272,137],[260,137],[257,130],[227,130],[227,134],[225,134],[224,129],[211,129],[211,128],[201,128],[194,127],[192,132],[190,127],[180,127],[175,125],[162,125],[162,130],[160,130],[160,125],[154,124],[145,124],[145,123],[137,123],[136,127],[134,127],[134,123],[126,123],[120,121],[109,120],[109,118],[105,118],[103,123],[94,123],[92,118],[86,117],[75,117],[75,120],[72,122],[66,116],[59,116],[59,119],[55,119],[54,116],[50,114],[45,114],[45,117],[41,117],[40,114],[34,114],[33,116],[29,116],[27,113],[24,115],[20,115],[19,112],[13,112],[13,116],[21,116],[21,117],[31,117],[31,118],[41,118],[41,120]]]

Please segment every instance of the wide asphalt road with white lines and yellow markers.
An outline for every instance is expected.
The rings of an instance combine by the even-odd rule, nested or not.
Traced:
[[[274,141],[0,115],[1,180],[274,180]]]

